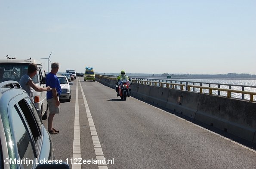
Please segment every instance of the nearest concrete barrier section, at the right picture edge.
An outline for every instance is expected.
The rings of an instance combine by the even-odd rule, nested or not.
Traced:
[[[200,94],[195,119],[256,143],[256,104]]]

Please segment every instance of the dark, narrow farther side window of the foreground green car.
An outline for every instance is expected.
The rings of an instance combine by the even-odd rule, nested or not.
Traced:
[[[31,112],[25,99],[22,99],[21,101],[19,101],[18,104],[30,127],[31,133],[33,134],[34,141],[37,142],[37,139],[40,136],[40,131],[39,131],[39,126],[37,124],[37,120],[35,119],[34,113]]]

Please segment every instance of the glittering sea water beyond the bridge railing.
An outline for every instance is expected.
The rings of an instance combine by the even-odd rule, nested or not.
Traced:
[[[168,79],[163,79],[164,82],[166,82],[166,80]],[[191,82],[195,82],[194,85],[195,86],[200,86],[200,83],[202,83],[202,86],[209,86],[208,83],[218,83],[218,84],[228,84],[228,85],[241,85],[241,86],[252,86],[252,87],[245,87],[244,91],[248,91],[248,92],[256,92],[256,80],[244,80],[244,79],[169,79],[172,80],[171,83],[180,83],[180,81],[182,81],[182,84],[186,85],[186,82],[190,82],[188,83],[188,85],[193,85],[193,83]],[[162,81],[162,79],[160,80]],[[177,81],[177,82],[175,82]],[[170,81],[168,81],[168,83],[170,83]],[[218,88],[218,85],[214,85],[211,84],[211,87],[216,87]],[[229,86],[225,86],[225,85],[221,85],[220,88],[222,89],[229,89]],[[178,87],[179,89],[179,87]],[[231,89],[233,90],[242,90],[242,87],[240,86],[231,86]],[[196,88],[195,92],[199,92],[200,89]],[[207,89],[203,89],[204,93],[208,93]],[[218,91],[213,91],[213,95],[218,95]],[[220,92],[220,95],[226,96],[227,92]],[[232,93],[231,97],[234,98],[242,98],[242,94],[239,93]],[[249,100],[250,99],[250,95],[244,95],[244,98]],[[256,101],[256,96],[253,97],[253,100]]]

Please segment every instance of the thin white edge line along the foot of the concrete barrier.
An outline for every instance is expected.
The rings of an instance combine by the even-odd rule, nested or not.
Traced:
[[[136,99],[136,98],[134,98],[134,99]],[[141,101],[141,100],[139,100],[139,99],[137,99],[137,100],[138,100],[138,101]],[[142,103],[145,103],[144,101],[141,101],[141,102],[142,102]],[[145,103],[145,104],[148,104],[148,103]],[[151,105],[151,104],[148,104],[148,105],[154,107],[154,106]],[[160,109],[160,108],[158,108],[158,107],[154,107],[154,108],[156,108],[156,109],[158,109],[158,110],[161,110],[161,111],[163,111],[163,112],[165,112],[165,113],[168,113],[168,114],[170,114],[171,116],[174,116],[174,117],[176,117],[176,118],[178,118],[178,119],[181,119],[181,120],[183,120],[183,121],[185,121],[185,122],[188,122],[188,123],[190,123],[191,125],[200,127],[200,128],[203,129],[203,130],[206,130],[206,131],[208,131],[208,132],[210,132],[210,133],[213,133],[213,134],[216,135],[216,136],[219,136],[219,137],[221,137],[221,138],[223,138],[223,139],[225,139],[225,140],[227,140],[227,141],[229,141],[229,142],[232,142],[232,143],[234,143],[234,144],[236,144],[236,145],[238,145],[238,146],[240,146],[240,147],[242,147],[242,148],[245,148],[245,149],[247,149],[247,150],[250,150],[250,151],[256,153],[256,151],[253,150],[252,148],[249,148],[249,147],[247,147],[247,146],[245,146],[245,145],[242,145],[242,144],[240,144],[240,143],[238,143],[238,142],[235,142],[235,141],[233,141],[233,140],[231,140],[231,139],[228,139],[228,138],[225,137],[225,136],[222,136],[222,135],[220,135],[220,134],[218,134],[218,133],[215,133],[215,132],[213,132],[213,131],[211,131],[211,130],[208,130],[208,129],[204,128],[204,127],[201,127],[201,126],[196,125],[196,124],[194,124],[194,123],[192,123],[192,122],[189,122],[188,120],[182,119],[181,117],[176,116],[175,114],[169,113],[169,112],[167,112],[167,111],[165,111],[165,110],[162,110],[162,109]]]

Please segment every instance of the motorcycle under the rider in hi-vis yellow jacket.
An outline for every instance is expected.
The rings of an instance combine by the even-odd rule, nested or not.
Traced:
[[[116,92],[118,92],[120,98],[124,101],[126,101],[126,98],[130,97],[130,84],[131,82],[129,80],[121,80],[119,85],[116,86]]]

